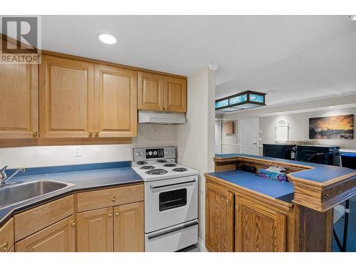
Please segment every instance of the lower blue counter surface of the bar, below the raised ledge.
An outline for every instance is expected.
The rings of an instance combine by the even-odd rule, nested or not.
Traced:
[[[294,187],[290,182],[278,182],[271,179],[264,179],[258,177],[257,174],[240,170],[210,172],[209,175],[239,185],[240,187],[265,194],[268,197],[281,199],[286,202],[291,202],[293,199]]]

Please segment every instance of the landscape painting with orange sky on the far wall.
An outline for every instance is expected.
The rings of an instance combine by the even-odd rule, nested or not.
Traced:
[[[353,139],[354,115],[309,118],[309,139]]]

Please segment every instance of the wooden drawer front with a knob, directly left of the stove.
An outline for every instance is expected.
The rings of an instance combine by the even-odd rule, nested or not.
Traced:
[[[143,184],[78,193],[78,212],[143,200]]]

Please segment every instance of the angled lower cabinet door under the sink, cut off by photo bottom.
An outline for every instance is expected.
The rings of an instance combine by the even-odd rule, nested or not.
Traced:
[[[74,252],[75,221],[70,216],[15,244],[16,252]]]

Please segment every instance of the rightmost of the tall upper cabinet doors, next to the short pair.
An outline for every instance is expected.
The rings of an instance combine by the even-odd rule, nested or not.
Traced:
[[[95,136],[137,136],[137,73],[95,65]]]

